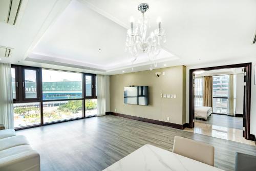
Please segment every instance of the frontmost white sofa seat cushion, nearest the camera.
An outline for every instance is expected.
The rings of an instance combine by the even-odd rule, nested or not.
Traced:
[[[18,145],[0,151],[0,159],[32,150],[30,145]]]

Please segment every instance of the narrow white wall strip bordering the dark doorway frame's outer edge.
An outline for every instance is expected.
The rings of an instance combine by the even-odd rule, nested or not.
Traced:
[[[215,66],[224,66],[224,65],[232,65],[237,63],[246,63],[252,62],[252,76],[251,76],[251,118],[250,118],[250,134],[256,135],[256,85],[254,85],[254,65],[256,65],[256,60],[236,60],[234,61],[222,61],[198,66],[188,66],[187,67],[187,77],[186,77],[186,123],[189,123],[189,70],[197,69],[197,68],[207,68],[207,67],[215,67]]]

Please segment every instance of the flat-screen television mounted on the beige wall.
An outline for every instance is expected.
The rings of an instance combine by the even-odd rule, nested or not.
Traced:
[[[148,86],[124,87],[124,103],[148,105]]]

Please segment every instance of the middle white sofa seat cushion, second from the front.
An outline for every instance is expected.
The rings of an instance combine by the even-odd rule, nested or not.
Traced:
[[[8,149],[18,145],[29,144],[27,138],[23,135],[17,135],[13,137],[0,139],[0,151]]]

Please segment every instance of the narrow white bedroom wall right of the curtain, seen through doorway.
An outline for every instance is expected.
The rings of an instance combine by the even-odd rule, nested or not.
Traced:
[[[244,114],[244,74],[237,74],[236,114]]]

